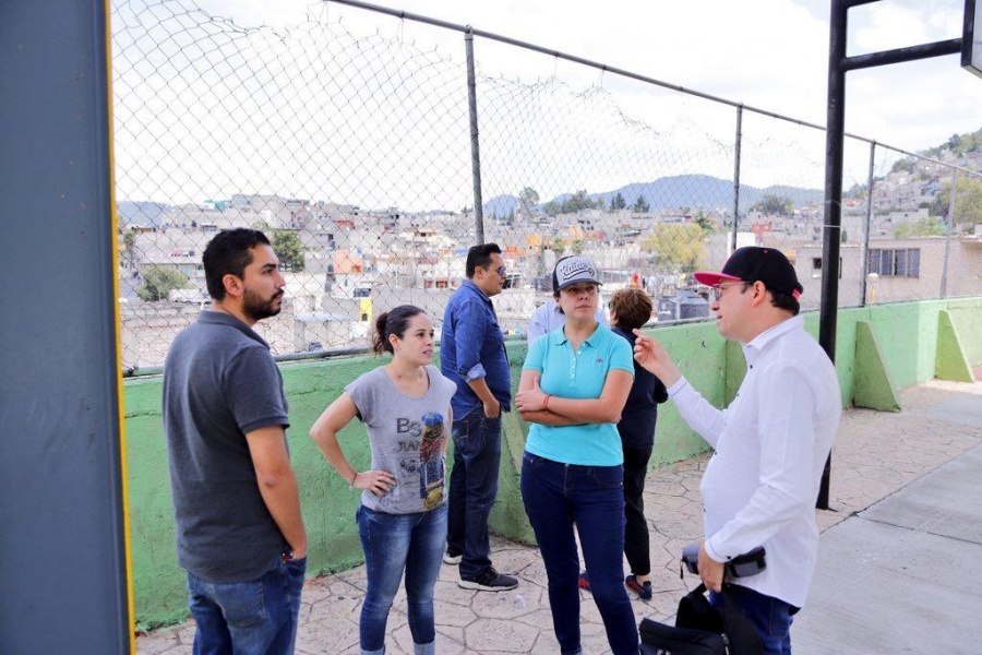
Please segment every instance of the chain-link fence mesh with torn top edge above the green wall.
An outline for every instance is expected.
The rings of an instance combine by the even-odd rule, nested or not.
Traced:
[[[284,310],[258,325],[278,355],[362,347],[404,302],[439,329],[478,224],[504,250],[495,306],[513,333],[572,253],[598,262],[604,294],[643,284],[669,321],[708,315],[693,271],[734,242],[773,246],[817,307],[822,130],[638,80],[576,90],[479,66],[481,219],[464,41],[447,57],[326,21],[247,29],[192,0],[116,0],[124,367],[160,365],[206,306],[201,254],[229,227],[266,231],[283,263]],[[848,139],[847,160],[861,164],[845,184],[841,306],[980,293],[982,153]]]

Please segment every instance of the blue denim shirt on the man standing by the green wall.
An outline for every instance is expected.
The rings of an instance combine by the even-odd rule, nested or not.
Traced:
[[[451,297],[443,312],[440,371],[454,381],[451,401],[454,420],[460,420],[483,403],[467,383],[484,378],[502,412],[511,409],[512,373],[494,306],[469,279]]]

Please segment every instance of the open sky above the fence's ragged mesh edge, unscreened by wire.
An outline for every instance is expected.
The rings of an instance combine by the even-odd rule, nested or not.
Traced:
[[[350,31],[402,34],[457,55],[459,35],[337,3],[199,0],[241,26],[285,26],[307,15]],[[392,9],[527,40],[664,82],[817,124],[826,119],[827,0],[392,0]],[[849,55],[961,36],[963,0],[882,0],[849,13]],[[448,38],[447,38],[448,37]],[[484,47],[484,45],[478,46]],[[490,46],[488,46],[490,47]],[[463,57],[463,55],[460,55]],[[597,72],[546,56],[501,57],[523,80],[597,82]],[[484,63],[484,72],[489,70]],[[612,83],[612,75],[604,83]],[[613,82],[615,83],[615,82]],[[905,150],[982,127],[982,79],[957,56],[847,75],[847,131]]]

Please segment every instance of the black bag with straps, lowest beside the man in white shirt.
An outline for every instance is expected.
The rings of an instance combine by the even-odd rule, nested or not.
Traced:
[[[723,584],[723,608],[716,608],[700,584],[679,602],[675,626],[643,619],[640,652],[646,655],[762,655],[761,636]]]

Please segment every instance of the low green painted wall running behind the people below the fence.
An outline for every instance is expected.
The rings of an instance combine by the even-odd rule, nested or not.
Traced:
[[[934,377],[938,311],[948,309],[972,366],[982,364],[982,298],[924,301],[846,309],[839,312],[836,368],[843,405],[854,392],[855,324],[869,321],[884,360],[900,389]],[[805,325],[817,334],[817,314]],[[727,344],[712,323],[656,327],[650,331],[672,353],[693,385],[709,402],[732,398],[743,379],[742,352]],[[517,385],[524,343],[510,343],[513,385]],[[310,538],[311,575],[351,568],[362,561],[355,526],[358,493],[348,490],[324,462],[308,437],[311,425],[349,381],[384,360],[351,357],[288,364],[282,367],[290,403],[289,445],[301,488],[303,516]],[[170,483],[160,418],[160,379],[128,380],[124,384],[128,434],[129,508],[132,529],[133,586],[141,627],[171,623],[187,616],[184,575],[177,568]],[[516,413],[505,416],[499,500],[491,514],[492,529],[532,543],[518,487],[526,426]],[[346,454],[358,468],[368,466],[368,441],[355,421],[340,433]],[[659,407],[652,466],[685,460],[706,443],[682,421],[671,403]],[[448,457],[450,458],[450,457]]]

